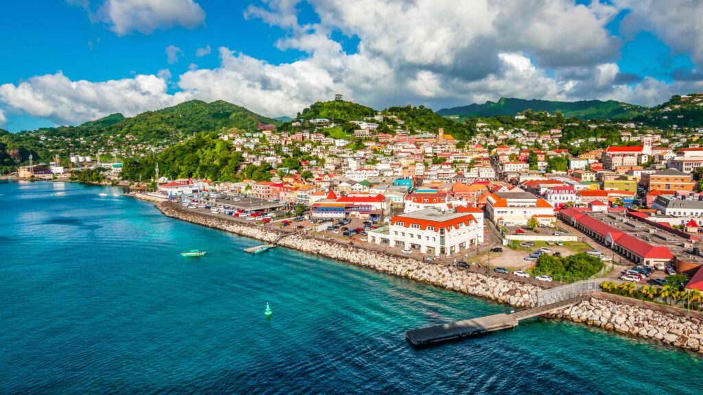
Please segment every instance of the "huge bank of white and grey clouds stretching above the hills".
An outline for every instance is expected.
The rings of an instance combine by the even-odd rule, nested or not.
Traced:
[[[375,108],[407,103],[441,108],[501,96],[651,105],[673,93],[703,89],[703,82],[667,84],[621,73],[616,63],[621,42],[605,25],[628,0],[615,6],[597,0],[588,6],[569,0],[308,0],[320,20],[308,25],[297,18],[299,1],[266,0],[245,11],[247,18],[281,27],[286,34],[276,47],[303,51],[299,60],[271,64],[222,47],[214,69],[191,64],[178,78],[165,69],[107,82],[71,81],[59,72],[0,86],[0,103],[55,122],[83,122],[191,98],[221,99],[278,116],[295,115],[335,93]],[[683,25],[682,32],[697,31],[688,20]],[[347,53],[331,32],[358,37],[359,46]],[[697,41],[690,41],[688,47],[681,44],[682,51],[696,51]],[[169,63],[175,63],[182,51],[169,48]],[[205,46],[195,54],[209,51]],[[169,94],[169,83],[179,93]]]

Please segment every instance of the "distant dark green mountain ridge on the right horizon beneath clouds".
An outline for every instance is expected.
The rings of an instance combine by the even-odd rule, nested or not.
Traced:
[[[444,108],[437,111],[437,114],[444,117],[495,117],[498,115],[516,115],[524,110],[557,112],[560,111],[565,117],[577,117],[581,119],[594,118],[628,118],[633,117],[646,108],[619,101],[544,101],[525,100],[520,98],[501,98],[497,102],[486,101],[484,104],[465,105],[463,107]]]

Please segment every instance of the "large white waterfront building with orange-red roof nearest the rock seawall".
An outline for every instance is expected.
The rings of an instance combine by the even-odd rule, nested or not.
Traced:
[[[472,213],[430,208],[393,216],[389,226],[369,231],[368,240],[439,257],[481,244],[484,227]]]

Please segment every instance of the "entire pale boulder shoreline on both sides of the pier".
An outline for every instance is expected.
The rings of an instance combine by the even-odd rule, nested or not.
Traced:
[[[236,221],[193,212],[174,202],[160,202],[156,207],[166,216],[193,224],[228,231],[248,238],[273,242],[279,235],[288,234],[278,229],[240,224]],[[443,287],[519,308],[534,306],[533,295],[541,287],[520,283],[506,278],[486,276],[449,266],[439,266],[395,257],[381,252],[364,250],[309,238],[288,235],[278,245],[350,264],[372,268],[409,280]],[[605,295],[603,295],[605,296]],[[632,304],[591,297],[575,306],[549,315],[553,318],[572,320],[576,323],[598,326],[621,334],[653,339],[664,344],[703,353],[703,320],[676,313],[657,311]]]

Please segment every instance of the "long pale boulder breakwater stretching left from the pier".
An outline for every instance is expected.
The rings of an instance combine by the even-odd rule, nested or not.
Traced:
[[[248,238],[263,240],[264,242],[273,242],[279,235],[283,234],[282,231],[273,228],[250,226],[231,219],[193,212],[183,209],[173,202],[160,202],[156,206],[166,216],[243,235]],[[541,290],[536,285],[519,283],[506,278],[486,276],[449,266],[420,262],[410,258],[395,257],[382,252],[340,245],[336,242],[318,240],[305,235],[290,235],[281,239],[278,245],[322,257],[346,261],[366,268],[373,268],[383,273],[437,285],[447,290],[463,292],[515,307],[533,306],[532,294]]]

